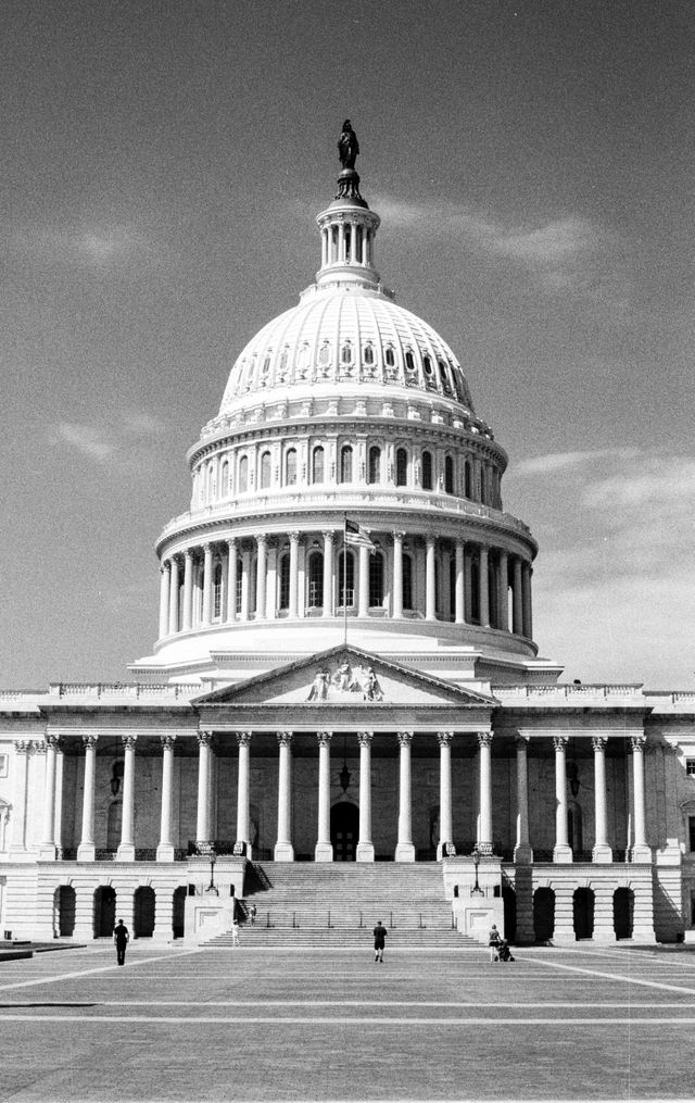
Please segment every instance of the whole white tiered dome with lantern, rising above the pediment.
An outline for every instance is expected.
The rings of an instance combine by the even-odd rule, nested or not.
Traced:
[[[458,679],[525,676],[536,545],[502,508],[507,454],[449,345],[383,286],[354,165],[317,223],[315,281],[242,349],[188,451],[132,670],[215,684],[349,635]]]

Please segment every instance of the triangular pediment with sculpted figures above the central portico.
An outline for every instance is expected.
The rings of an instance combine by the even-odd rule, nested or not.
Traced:
[[[459,708],[496,705],[493,698],[484,694],[460,689],[354,646],[332,647],[193,702],[205,707],[312,704],[351,707],[360,703]]]

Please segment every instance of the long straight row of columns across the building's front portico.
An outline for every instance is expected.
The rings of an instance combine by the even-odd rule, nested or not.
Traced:
[[[412,785],[411,785],[411,745],[413,731],[399,731],[399,816],[398,843],[394,858],[397,861],[414,861],[415,848],[412,838]],[[463,733],[461,733],[463,735]],[[492,732],[479,731],[478,740],[478,817],[477,847],[481,854],[492,853],[492,771],[491,749]],[[251,731],[236,732],[239,761],[237,781],[237,842],[246,844],[250,854],[250,770],[249,756]],[[135,735],[122,736],[124,764],[122,791],[121,838],[117,857],[119,860],[132,861],[135,858],[134,839],[134,771],[135,771]],[[173,757],[175,736],[161,736],[162,742],[162,797],[160,818],[160,843],[156,850],[158,860],[173,861],[174,839],[172,832],[173,807]],[[292,860],[292,731],[276,732],[279,745],[279,781],[278,781],[278,837],[275,843],[275,860]],[[316,861],[333,859],[330,844],[330,731],[317,732],[318,742],[318,824],[315,847]],[[359,769],[359,838],[357,844],[357,860],[373,861],[374,848],[371,839],[371,743],[373,732],[357,733],[360,750]],[[452,741],[453,731],[438,731],[439,746],[439,839],[437,857],[448,853],[447,846],[454,842],[453,797],[452,797]],[[94,861],[96,855],[95,827],[95,781],[97,736],[83,737],[85,747],[85,778],[82,817],[82,837],[77,850],[79,861]],[[198,792],[196,842],[209,844],[211,832],[211,757],[213,732],[202,731],[198,741]],[[553,737],[555,751],[555,861],[572,861],[573,854],[567,837],[567,783],[566,783],[566,736]],[[529,863],[533,860],[533,852],[529,839],[529,783],[528,783],[528,743],[529,737],[517,739],[517,831],[514,845],[514,861]],[[595,845],[593,858],[595,861],[612,860],[612,852],[608,843],[608,816],[606,794],[606,743],[604,736],[591,739],[594,749],[595,781]],[[632,788],[633,788],[633,845],[632,859],[650,861],[651,849],[647,845],[647,815],[644,788],[644,743],[645,737],[632,736]],[[54,736],[46,737],[46,771],[43,839],[41,857],[55,858],[57,854],[56,838],[59,838],[62,808],[62,759],[59,740]],[[28,746],[18,743],[20,754],[25,753]],[[57,762],[61,761],[58,784]],[[21,761],[21,760],[20,760]],[[20,773],[20,779],[22,774]],[[26,801],[26,771],[23,774],[23,786],[18,793],[19,803]],[[25,831],[23,827],[22,831]],[[17,844],[13,840],[13,846]],[[25,839],[21,840],[22,847]]]

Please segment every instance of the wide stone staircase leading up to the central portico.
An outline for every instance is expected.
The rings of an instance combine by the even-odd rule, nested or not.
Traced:
[[[436,863],[274,863],[247,870],[240,912],[256,904],[256,923],[240,915],[245,945],[371,946],[380,919],[387,949],[476,945],[452,925]],[[231,945],[231,932],[209,945]]]

